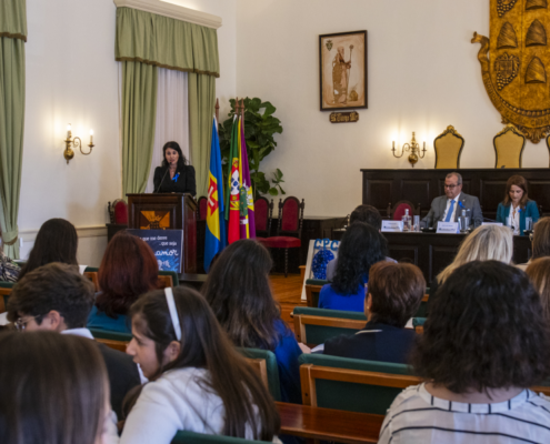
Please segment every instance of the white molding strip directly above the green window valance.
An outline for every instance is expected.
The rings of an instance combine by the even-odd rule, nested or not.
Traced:
[[[117,8],[133,8],[172,19],[200,24],[202,27],[218,29],[221,27],[221,17],[207,12],[196,11],[180,7],[179,4],[167,3],[161,0],[113,0]]]

